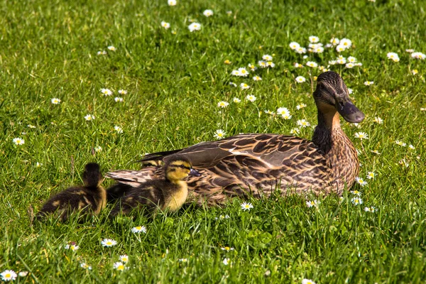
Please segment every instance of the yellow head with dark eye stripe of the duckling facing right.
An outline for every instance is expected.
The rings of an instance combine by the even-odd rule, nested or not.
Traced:
[[[183,155],[174,155],[164,165],[165,178],[171,182],[185,180],[188,175],[200,176],[201,174],[192,168],[190,160]]]

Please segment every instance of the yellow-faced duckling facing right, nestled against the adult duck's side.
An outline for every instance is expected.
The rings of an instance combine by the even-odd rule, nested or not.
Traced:
[[[149,180],[133,188],[111,210],[110,217],[116,217],[119,212],[126,215],[133,209],[143,208],[150,212],[155,212],[157,209],[178,211],[188,195],[185,179],[188,175],[200,176],[201,174],[194,170],[190,160],[182,155],[176,155],[168,160],[162,170],[165,178]]]

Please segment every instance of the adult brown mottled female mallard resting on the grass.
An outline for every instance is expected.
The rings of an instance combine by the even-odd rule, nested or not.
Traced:
[[[312,141],[279,134],[241,134],[153,153],[142,161],[167,162],[176,154],[185,155],[201,173],[187,181],[199,204],[220,204],[226,197],[244,197],[249,193],[254,197],[268,196],[276,188],[284,194],[342,195],[344,187],[354,183],[359,161],[354,146],[340,128],[339,114],[351,123],[362,121],[364,114],[351,102],[346,84],[336,72],[318,76],[314,99],[318,125]],[[162,175],[162,170],[155,166],[107,174],[125,187],[137,187],[158,175]]]

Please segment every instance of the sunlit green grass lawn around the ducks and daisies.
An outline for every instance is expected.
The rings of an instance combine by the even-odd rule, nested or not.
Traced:
[[[426,279],[425,61],[405,49],[426,52],[424,1],[1,1],[0,10],[0,271],[29,271],[28,283],[421,283]],[[214,16],[206,18],[204,9]],[[232,15],[226,14],[232,11]],[[202,30],[190,33],[194,19]],[[161,21],[170,23],[165,30]],[[172,33],[175,31],[175,34]],[[334,50],[303,59],[288,44],[308,37],[350,38],[362,67],[334,65],[354,102],[366,114],[344,131],[361,151],[361,177],[376,178],[362,192],[325,197],[307,208],[301,197],[241,200],[221,209],[185,207],[177,214],[107,220],[38,223],[35,212],[52,194],[81,182],[85,163],[104,171],[137,169],[141,154],[214,140],[214,131],[283,133],[297,119],[316,124],[310,78],[320,70],[293,62],[326,65]],[[107,50],[114,45],[116,51]],[[107,50],[107,55],[97,51]],[[400,62],[386,58],[396,52]],[[274,55],[262,81],[231,77],[231,71]],[[231,60],[225,65],[224,60]],[[412,70],[418,70],[412,75]],[[296,84],[295,77],[307,77]],[[364,81],[374,81],[370,87]],[[229,82],[251,85],[250,90]],[[100,89],[114,91],[102,97]],[[126,89],[124,102],[114,102]],[[244,99],[254,94],[256,102]],[[50,99],[62,100],[58,105]],[[239,97],[240,104],[232,103]],[[219,109],[217,102],[228,101]],[[296,110],[296,105],[307,104]],[[288,107],[293,119],[263,113]],[[222,111],[222,112],[219,112]],[[260,112],[259,112],[260,111]],[[93,114],[94,121],[84,121]],[[380,116],[383,124],[373,119]],[[36,126],[28,128],[28,124]],[[121,126],[123,133],[114,131]],[[369,139],[359,141],[354,133]],[[26,134],[23,134],[25,132]],[[312,129],[300,137],[310,138]],[[13,138],[25,139],[15,146]],[[395,144],[400,140],[415,150]],[[92,148],[101,146],[102,151]],[[378,150],[380,155],[371,153]],[[400,165],[405,159],[408,167]],[[40,168],[36,163],[42,163]],[[108,180],[105,185],[111,184]],[[315,197],[312,197],[312,199]],[[376,213],[364,212],[374,206]],[[216,219],[229,215],[229,219]],[[144,225],[147,234],[130,229]],[[100,241],[118,241],[103,248]],[[80,249],[63,249],[75,241]],[[222,246],[235,250],[225,253]],[[168,253],[166,253],[168,251]],[[113,263],[128,254],[129,270]],[[187,258],[187,262],[180,262]],[[229,258],[231,265],[222,261]],[[92,271],[80,268],[85,261]],[[270,271],[270,275],[265,275]]]

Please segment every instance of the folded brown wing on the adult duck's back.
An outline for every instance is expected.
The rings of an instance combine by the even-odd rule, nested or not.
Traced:
[[[212,168],[229,156],[245,156],[261,168],[280,168],[304,162],[306,158],[324,158],[311,141],[279,134],[240,134],[219,141],[202,142],[188,148],[146,155],[141,161],[163,160],[175,154],[185,155],[194,168]]]

